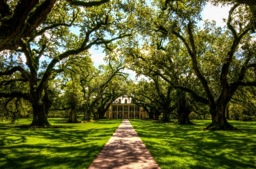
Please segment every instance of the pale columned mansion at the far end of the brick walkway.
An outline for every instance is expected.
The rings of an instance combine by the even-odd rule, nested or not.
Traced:
[[[110,119],[144,119],[147,111],[132,103],[131,98],[118,98],[109,106],[105,116]]]

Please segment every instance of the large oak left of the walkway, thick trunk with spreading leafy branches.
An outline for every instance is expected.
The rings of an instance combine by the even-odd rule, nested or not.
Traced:
[[[1,43],[2,50],[6,49],[2,54],[4,58],[9,57],[10,61],[9,64],[3,64],[0,76],[3,78],[8,77],[6,85],[10,81],[28,82],[29,90],[3,92],[0,93],[0,97],[22,97],[25,100],[29,100],[33,108],[33,122],[31,125],[50,126],[47,122],[47,114],[50,107],[48,104],[50,94],[48,82],[53,80],[58,73],[64,71],[62,67],[56,67],[56,64],[65,59],[72,59],[72,56],[75,55],[86,55],[86,51],[93,45],[103,45],[103,47],[109,48],[107,44],[125,36],[131,36],[133,29],[128,23],[130,20],[125,20],[127,14],[121,12],[118,7],[118,1],[109,3],[104,3],[104,0],[97,3],[56,2],[52,0],[47,3],[47,0],[37,1],[40,4],[30,1],[21,3],[21,1],[12,2],[13,7],[15,6],[16,8],[11,18],[17,19],[18,12],[25,8],[23,13],[26,21],[20,20],[31,27],[25,29],[27,27],[23,25],[24,27],[19,29],[20,26],[16,27],[16,22],[13,21],[12,25],[15,30],[11,31],[11,33],[15,35],[9,35],[8,31],[3,30],[6,24],[4,19],[2,20],[1,27],[3,29],[1,33],[3,33],[3,37],[1,38],[4,40]],[[8,4],[7,1],[1,2]],[[46,8],[42,7],[45,3],[47,3],[46,5],[50,10],[48,12]],[[50,5],[51,3],[53,4]],[[97,8],[92,7],[95,5],[100,6],[97,6]],[[78,6],[92,8],[83,8],[82,11]],[[44,9],[44,14],[45,12],[47,14],[43,15],[37,9]],[[43,20],[36,20],[33,14],[42,14],[40,16],[43,17]],[[1,14],[1,17],[4,16],[5,14]],[[33,18],[33,22],[36,20],[34,25],[32,21],[30,22],[30,17],[31,19]],[[4,18],[8,19],[8,15]],[[20,25],[19,23],[17,24]],[[80,35],[77,36],[70,32],[70,27],[80,28]],[[9,30],[12,29],[10,28]],[[30,32],[33,32],[32,36],[26,34]],[[15,60],[15,55],[25,55],[26,65]],[[50,62],[40,64],[39,60],[42,56],[48,57]],[[11,77],[15,72],[19,72],[21,78]]]

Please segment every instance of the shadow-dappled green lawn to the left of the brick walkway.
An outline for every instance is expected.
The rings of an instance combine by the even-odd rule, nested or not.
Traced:
[[[88,168],[122,122],[58,123],[64,120],[48,119],[52,125],[69,128],[28,129],[0,123],[0,169]]]

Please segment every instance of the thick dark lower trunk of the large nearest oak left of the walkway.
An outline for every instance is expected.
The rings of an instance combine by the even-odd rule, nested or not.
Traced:
[[[33,108],[33,121],[30,126],[39,126],[39,127],[50,127],[52,126],[47,119],[49,112],[48,106],[41,102],[40,100],[34,101],[31,103]]]

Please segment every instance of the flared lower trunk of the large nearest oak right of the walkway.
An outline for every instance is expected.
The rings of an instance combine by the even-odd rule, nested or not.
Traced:
[[[238,130],[228,123],[225,117],[226,105],[220,105],[217,108],[211,108],[211,124],[208,125],[206,130]]]

